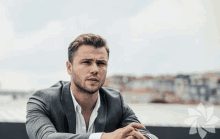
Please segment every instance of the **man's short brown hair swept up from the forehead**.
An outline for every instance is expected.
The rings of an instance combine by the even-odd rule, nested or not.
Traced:
[[[70,43],[68,47],[68,60],[69,62],[73,62],[73,57],[78,48],[81,45],[89,45],[95,48],[105,47],[108,58],[109,58],[109,48],[107,46],[107,42],[99,35],[95,35],[92,33],[79,35],[73,42]]]

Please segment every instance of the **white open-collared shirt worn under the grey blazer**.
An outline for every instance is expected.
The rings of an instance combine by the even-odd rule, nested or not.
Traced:
[[[70,86],[70,92],[71,92],[71,96],[73,99],[73,104],[74,104],[74,109],[76,112],[76,134],[82,134],[82,133],[92,133],[89,136],[89,139],[101,139],[101,136],[103,134],[103,132],[100,133],[94,133],[95,132],[95,126],[94,126],[94,121],[98,116],[98,110],[100,107],[100,96],[98,93],[98,100],[96,102],[96,105],[92,111],[92,114],[90,116],[89,119],[89,126],[88,126],[88,131],[86,131],[86,123],[85,123],[85,119],[83,117],[83,115],[81,114],[81,106],[77,103],[75,96],[73,95],[71,86]]]

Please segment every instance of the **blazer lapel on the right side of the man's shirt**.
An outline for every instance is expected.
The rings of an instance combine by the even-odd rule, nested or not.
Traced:
[[[103,89],[101,88],[99,91],[101,105],[98,110],[98,116],[95,120],[95,132],[104,132],[107,117],[107,103]]]

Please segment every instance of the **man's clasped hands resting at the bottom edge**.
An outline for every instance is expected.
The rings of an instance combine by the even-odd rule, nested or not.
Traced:
[[[148,139],[139,133],[137,129],[145,130],[145,127],[139,123],[131,123],[113,132],[103,133],[101,139]]]

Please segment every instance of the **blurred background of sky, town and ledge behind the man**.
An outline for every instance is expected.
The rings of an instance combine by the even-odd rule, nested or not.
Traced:
[[[120,90],[153,134],[201,138],[184,121],[198,104],[214,107],[211,115],[220,119],[219,6],[218,0],[0,0],[1,138],[27,138],[29,96],[70,80],[67,48],[82,33],[107,40],[104,86]],[[215,132],[204,129],[204,139],[220,137],[220,121],[212,125]]]

